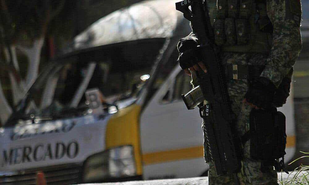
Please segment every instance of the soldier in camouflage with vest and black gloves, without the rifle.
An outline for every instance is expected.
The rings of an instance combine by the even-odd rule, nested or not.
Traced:
[[[232,73],[232,65],[244,70],[238,77],[227,77],[231,107],[236,115],[236,131],[239,137],[249,130],[249,114],[269,104],[282,106],[289,96],[293,65],[301,51],[300,0],[207,0],[214,41],[221,46],[220,57],[226,75]],[[184,71],[196,84],[196,70],[207,72],[193,48],[197,37],[193,32],[180,39],[179,61],[188,60],[194,65]],[[195,60],[195,61],[194,61]],[[182,61],[184,62],[184,61]],[[253,73],[257,73],[253,74]],[[232,73],[233,74],[233,73]],[[251,77],[249,77],[249,75]],[[250,84],[250,85],[249,85]],[[202,125],[203,127],[203,125]],[[205,133],[205,131],[204,131]],[[240,184],[277,184],[277,172],[261,172],[261,162],[250,158],[250,144],[242,146],[242,167],[237,173]],[[232,175],[217,177],[209,157],[209,147],[204,138],[204,158],[209,164],[209,184],[233,184]]]

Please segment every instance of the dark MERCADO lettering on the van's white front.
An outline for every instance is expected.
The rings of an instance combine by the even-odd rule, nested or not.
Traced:
[[[79,153],[78,142],[72,141],[54,144],[37,144],[33,146],[22,146],[3,150],[0,155],[1,167],[21,164],[26,162],[40,162],[45,160],[57,160],[64,157],[75,158]]]

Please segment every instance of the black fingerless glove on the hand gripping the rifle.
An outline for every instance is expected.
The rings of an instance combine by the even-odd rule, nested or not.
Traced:
[[[188,74],[188,69],[198,71],[200,68],[207,72],[207,69],[202,62],[202,52],[204,47],[194,47],[184,52],[180,52],[178,60],[180,67]]]

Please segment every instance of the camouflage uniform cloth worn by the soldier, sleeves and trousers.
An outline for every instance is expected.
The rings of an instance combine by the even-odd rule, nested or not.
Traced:
[[[208,2],[211,1],[208,0]],[[302,47],[300,34],[301,6],[300,0],[266,0],[266,7],[267,16],[273,25],[270,51],[267,54],[256,52],[222,52],[220,56],[223,66],[226,64],[265,65],[260,76],[268,78],[278,88],[284,77],[289,79],[288,82],[290,82],[293,65]],[[216,8],[218,8],[217,5]],[[211,11],[209,9],[209,12]],[[182,46],[193,47],[196,40],[197,38],[192,32],[186,38],[180,40],[178,48]],[[194,73],[192,79],[194,85]],[[248,90],[248,81],[245,79],[228,80],[227,88],[230,101],[232,102],[232,110],[237,118],[237,135],[242,136],[249,130],[249,113],[252,109],[249,105],[242,103],[243,97]],[[288,96],[289,88],[286,91],[285,93]],[[203,125],[202,128],[205,129]],[[277,173],[273,170],[273,167],[269,167],[269,172],[262,173],[260,171],[261,162],[250,159],[249,142],[247,141],[243,145],[242,168],[237,173],[240,184],[277,184]],[[216,177],[214,164],[209,159],[207,142],[204,142],[204,157],[205,161],[209,164],[209,184],[233,184],[230,175]]]

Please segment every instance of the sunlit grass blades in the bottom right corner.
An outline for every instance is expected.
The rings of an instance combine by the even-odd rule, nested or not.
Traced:
[[[302,152],[303,154],[309,154],[307,152]],[[300,158],[295,159],[294,161],[290,162],[289,164],[292,164],[293,162],[301,159],[301,158],[307,158],[309,156],[305,155]],[[308,185],[309,184],[309,166],[307,165],[301,165],[295,169],[293,173],[288,175],[287,179],[282,178],[281,174],[281,181],[279,182],[281,185],[290,185],[290,184],[295,184],[295,185]]]

